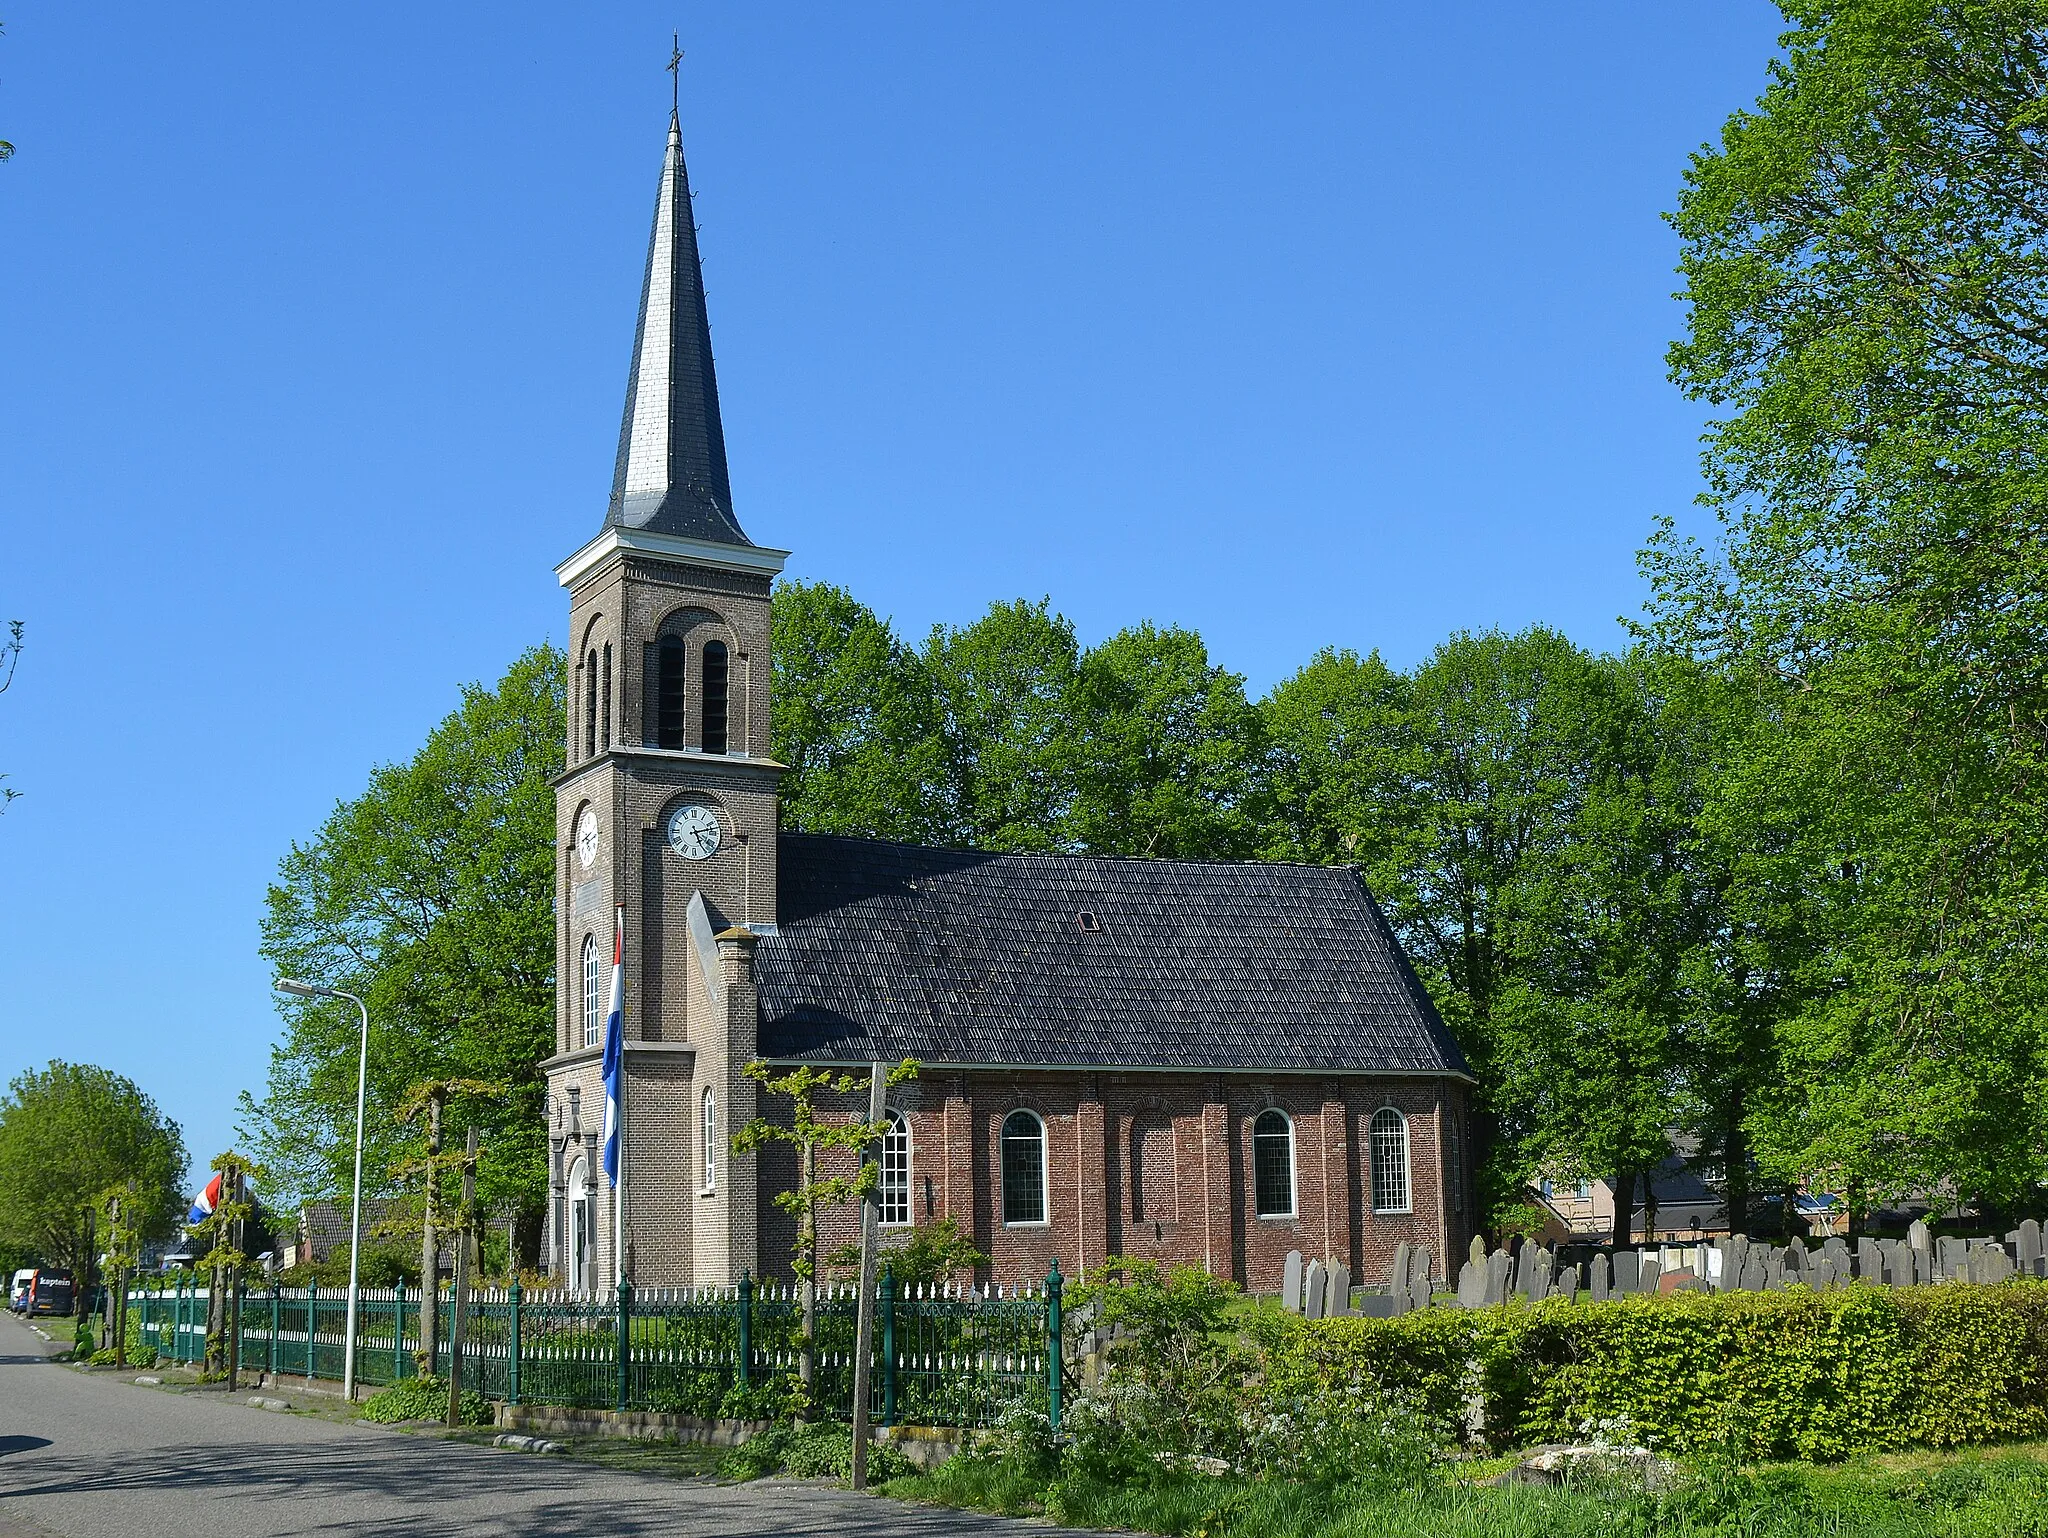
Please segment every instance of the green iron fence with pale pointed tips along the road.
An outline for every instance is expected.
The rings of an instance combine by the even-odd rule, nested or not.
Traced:
[[[809,1401],[852,1417],[852,1286],[817,1294]],[[172,1362],[207,1354],[207,1284],[129,1292],[137,1343]],[[446,1372],[453,1307],[434,1311],[430,1372]],[[260,1288],[242,1296],[242,1368],[281,1378],[340,1378],[348,1343],[340,1288]],[[874,1292],[868,1415],[879,1425],[987,1425],[1012,1405],[1063,1399],[1061,1276],[1038,1286],[897,1288],[885,1270]],[[383,1386],[420,1370],[420,1298],[365,1288],[356,1305],[356,1380]],[[471,1294],[463,1380],[492,1399],[584,1409],[643,1409],[754,1417],[786,1389],[803,1358],[803,1294],[788,1282],[616,1292],[479,1290]],[[768,1393],[758,1393],[768,1391]]]

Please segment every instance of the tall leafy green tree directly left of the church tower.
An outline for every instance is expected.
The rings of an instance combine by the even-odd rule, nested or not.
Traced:
[[[422,1079],[487,1079],[496,1100],[465,1102],[483,1135],[479,1198],[518,1216],[537,1253],[547,1200],[541,1061],[553,1051],[555,791],[563,764],[563,657],[520,655],[496,688],[461,707],[403,764],[371,774],[285,856],[270,887],[262,954],[279,973],[360,993],[371,1010],[365,1180],[418,1155],[397,1114]],[[244,1124],[272,1188],[332,1196],[348,1188],[356,1094],[356,1012],[346,1001],[285,1001],[262,1100]]]

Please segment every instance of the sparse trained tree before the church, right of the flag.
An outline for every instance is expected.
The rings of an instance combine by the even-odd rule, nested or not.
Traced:
[[[791,1270],[803,1298],[801,1348],[797,1358],[799,1403],[797,1419],[811,1413],[811,1391],[817,1380],[817,1208],[858,1202],[874,1190],[881,1167],[862,1155],[883,1137],[887,1120],[870,1122],[858,1112],[821,1112],[819,1098],[848,1100],[868,1087],[864,1073],[831,1073],[809,1065],[776,1073],[768,1063],[748,1063],[745,1075],[762,1092],[786,1102],[784,1108],[756,1116],[733,1133],[733,1153],[754,1153],[786,1147],[795,1153],[795,1180],[776,1190],[774,1204],[797,1223],[797,1243],[791,1247]],[[895,1087],[918,1077],[915,1059],[903,1059],[885,1075]],[[838,1163],[850,1173],[819,1173],[819,1163]]]

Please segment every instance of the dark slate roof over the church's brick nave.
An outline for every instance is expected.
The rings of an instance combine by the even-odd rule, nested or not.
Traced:
[[[817,834],[778,870],[764,1057],[1466,1073],[1356,870]]]

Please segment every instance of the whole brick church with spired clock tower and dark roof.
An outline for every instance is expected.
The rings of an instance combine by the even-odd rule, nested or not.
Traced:
[[[1442,1276],[1475,1223],[1473,1077],[1358,872],[780,829],[768,614],[786,555],[733,512],[672,115],[610,506],[555,567],[573,666],[547,1268],[571,1288],[786,1276],[772,1194],[795,1163],[731,1151],[776,1112],[748,1063],[911,1057],[883,1239],[952,1219],[987,1255],[961,1282],[1137,1255],[1276,1290],[1288,1251],[1380,1280],[1403,1241]],[[821,1214],[821,1249],[856,1223]]]

